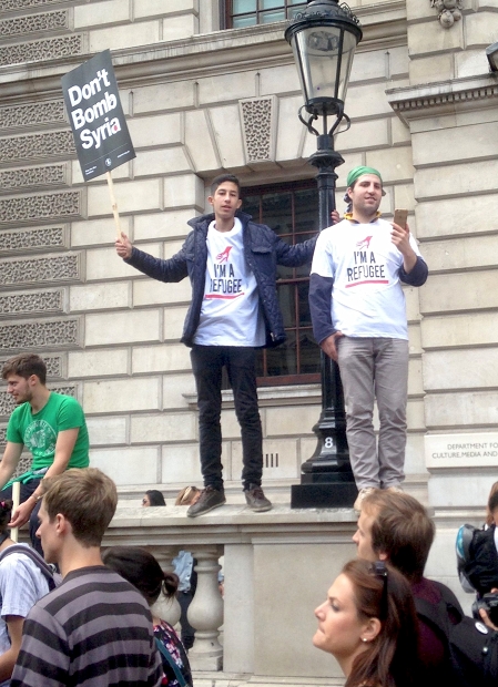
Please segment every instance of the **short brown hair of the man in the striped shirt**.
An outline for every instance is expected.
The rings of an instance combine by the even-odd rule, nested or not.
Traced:
[[[118,505],[111,478],[98,468],[72,468],[41,483],[49,520],[61,513],[82,546],[100,546]]]

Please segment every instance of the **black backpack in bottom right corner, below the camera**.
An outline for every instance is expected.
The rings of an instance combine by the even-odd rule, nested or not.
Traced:
[[[415,597],[417,615],[441,639],[448,655],[451,687],[496,687],[498,680],[498,632],[463,614],[460,604],[443,584],[434,582],[441,598],[437,605]],[[454,622],[451,621],[454,619]]]

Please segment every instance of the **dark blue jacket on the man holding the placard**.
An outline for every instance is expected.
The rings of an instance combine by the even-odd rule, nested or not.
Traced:
[[[256,277],[260,307],[266,326],[266,346],[278,346],[286,337],[276,293],[276,266],[301,267],[311,263],[316,237],[291,246],[270,227],[252,222],[250,215],[237,212],[236,216],[243,226],[245,262]],[[181,339],[186,346],[193,345],[199,327],[206,276],[207,228],[213,219],[213,214],[191,219],[189,224],[193,227],[193,232],[186,237],[181,250],[167,260],[155,258],[135,247],[131,257],[125,260],[132,267],[160,281],[181,281],[186,276],[190,277],[192,303]]]

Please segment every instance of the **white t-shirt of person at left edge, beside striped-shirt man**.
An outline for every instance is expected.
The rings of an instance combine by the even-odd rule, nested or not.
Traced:
[[[27,544],[22,544],[27,548]],[[49,593],[49,583],[28,556],[12,553],[0,563],[0,655],[10,648],[6,616],[18,615],[26,618],[32,606]],[[10,685],[10,679],[1,683]]]

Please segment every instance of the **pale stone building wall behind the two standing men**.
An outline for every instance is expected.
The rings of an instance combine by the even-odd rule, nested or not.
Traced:
[[[222,29],[222,4],[0,0],[1,356],[47,358],[50,387],[83,403],[92,463],[128,499],[200,482],[194,381],[179,341],[190,285],[152,281],[115,255],[105,178],[83,183],[60,79],[111,50],[136,151],[113,172],[121,226],[169,257],[206,208],[214,175],[233,172],[250,187],[314,175],[285,21]],[[479,520],[498,462],[498,81],[485,54],[498,38],[498,1],[457,0],[440,18],[437,4],[349,1],[364,38],[346,99],[352,126],[336,137],[337,204],[352,166],[379,168],[385,217],[409,209],[429,264],[426,286],[406,289],[406,470],[449,547],[455,519]],[[7,394],[1,404],[4,433]],[[230,392],[224,406],[235,503]],[[266,386],[261,406],[264,483],[285,503],[315,449],[319,384]]]

